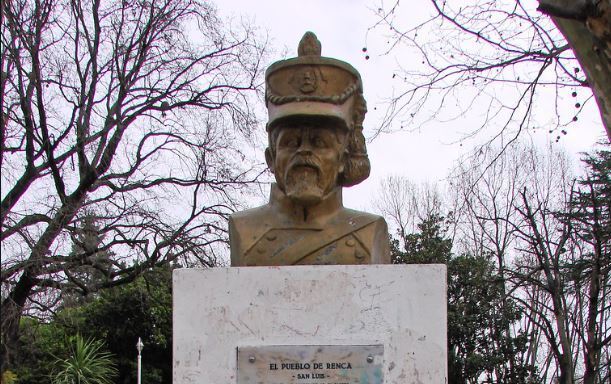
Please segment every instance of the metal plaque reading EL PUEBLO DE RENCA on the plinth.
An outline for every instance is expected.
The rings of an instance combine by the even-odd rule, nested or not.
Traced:
[[[238,347],[238,384],[382,384],[383,345]]]

